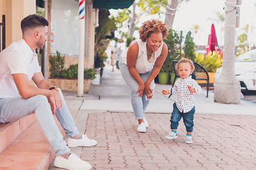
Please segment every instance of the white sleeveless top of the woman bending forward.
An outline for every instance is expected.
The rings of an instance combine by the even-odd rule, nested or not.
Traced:
[[[151,67],[153,67],[155,65],[156,59],[157,57],[159,57],[162,53],[162,49],[163,49],[163,42],[162,45],[158,48],[158,50],[155,53],[155,59],[152,62],[149,62],[147,59],[147,41],[143,42],[141,39],[136,39],[138,45],[139,45],[139,53],[138,53],[138,58],[136,61],[136,69],[138,71],[138,73],[147,73],[148,71],[150,71]],[[122,62],[124,64],[127,64],[127,50],[124,50],[124,52],[122,52]]]

